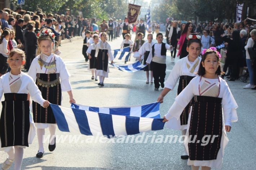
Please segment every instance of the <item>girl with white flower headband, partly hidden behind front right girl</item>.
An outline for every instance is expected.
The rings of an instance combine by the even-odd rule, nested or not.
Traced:
[[[178,80],[178,95],[181,91],[189,84],[189,82],[197,75],[201,58],[199,57],[201,52],[201,41],[200,36],[196,34],[189,35],[189,40],[187,42],[187,51],[189,55],[177,61],[174,65],[171,74],[169,75],[166,85],[162,93],[158,97],[158,102],[163,102],[163,98],[169,91],[174,89]],[[192,98],[191,98],[192,99]],[[182,135],[186,134],[187,120],[189,118],[189,111],[191,102],[185,107],[184,111],[180,115],[180,119],[172,118],[168,121],[167,127],[175,130],[181,130]],[[182,159],[188,159],[188,153],[186,149],[184,154],[181,156]]]

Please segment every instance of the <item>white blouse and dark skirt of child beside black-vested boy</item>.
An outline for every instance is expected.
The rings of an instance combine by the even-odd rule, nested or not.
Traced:
[[[141,59],[144,59],[143,61],[143,64],[146,65],[146,61],[147,61],[147,58],[149,56],[149,53],[150,53],[150,50],[153,46],[153,42],[149,43],[149,42],[145,42],[140,50],[138,51],[139,54],[141,55]],[[150,65],[147,65],[144,69],[144,71],[151,71],[152,70],[152,62],[150,63]]]

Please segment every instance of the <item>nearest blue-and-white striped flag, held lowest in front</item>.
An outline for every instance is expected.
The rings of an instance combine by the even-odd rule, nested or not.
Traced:
[[[101,135],[107,138],[161,130],[163,119],[102,114],[50,104],[62,132]]]

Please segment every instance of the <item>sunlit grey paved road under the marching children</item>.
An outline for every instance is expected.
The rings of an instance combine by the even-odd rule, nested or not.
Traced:
[[[112,49],[120,47],[122,38],[110,42]],[[146,75],[143,71],[136,73],[121,72],[110,66],[109,78],[105,79],[105,86],[98,87],[91,81],[91,73],[87,71],[88,63],[84,62],[82,40],[63,44],[60,47],[62,58],[71,74],[70,82],[75,100],[78,104],[90,106],[127,106],[141,105],[155,102],[159,93],[154,91],[153,85],[145,84]],[[168,52],[168,55],[169,52]],[[173,68],[170,58],[167,59],[167,76]],[[167,78],[167,77],[166,77]],[[240,81],[228,82],[233,95],[239,105],[237,123],[232,124],[228,133],[229,144],[225,149],[223,170],[256,169],[256,91],[243,89],[245,83]],[[170,92],[160,106],[163,116],[174,102],[177,87]],[[69,107],[67,93],[63,93],[63,106]],[[48,135],[48,130],[46,135]],[[56,134],[67,139],[58,141],[54,152],[45,146],[45,156],[36,158],[37,138],[30,147],[25,149],[22,169],[31,170],[189,170],[185,160],[180,159],[183,151],[181,143],[86,143],[91,139],[79,134]],[[164,130],[147,133],[150,135],[180,135],[179,131],[164,128]],[[62,136],[61,136],[62,135]],[[70,136],[69,136],[70,135]],[[135,135],[137,137],[138,135]],[[77,142],[70,141],[77,139]],[[7,154],[1,152],[0,162]],[[13,169],[13,166],[12,166]]]

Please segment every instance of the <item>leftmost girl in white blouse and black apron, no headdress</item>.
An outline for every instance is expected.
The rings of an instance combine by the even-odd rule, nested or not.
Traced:
[[[0,77],[0,98],[4,93],[0,119],[0,150],[8,153],[2,169],[9,169],[15,161],[14,170],[20,170],[23,149],[32,143],[35,136],[28,93],[40,106],[48,107],[49,102],[43,99],[33,79],[21,72],[21,67],[25,64],[24,51],[13,49],[7,62],[11,71]]]

